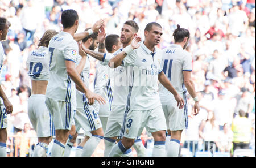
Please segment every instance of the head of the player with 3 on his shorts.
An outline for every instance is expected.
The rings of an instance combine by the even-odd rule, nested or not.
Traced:
[[[158,45],[163,35],[162,27],[156,22],[148,23],[144,30],[145,41],[151,45]]]

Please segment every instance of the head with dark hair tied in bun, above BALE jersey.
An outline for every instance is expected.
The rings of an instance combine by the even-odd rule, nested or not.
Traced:
[[[177,25],[177,28],[174,31],[174,42],[184,44],[183,49],[185,49],[188,45],[190,33],[187,29],[180,28],[180,25]]]

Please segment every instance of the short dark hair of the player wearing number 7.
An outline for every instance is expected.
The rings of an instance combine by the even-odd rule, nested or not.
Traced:
[[[61,23],[63,24],[63,28],[72,27],[77,19],[79,19],[78,14],[72,9],[64,10],[61,14]]]

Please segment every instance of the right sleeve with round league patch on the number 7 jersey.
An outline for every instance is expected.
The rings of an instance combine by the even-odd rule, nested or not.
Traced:
[[[76,62],[78,54],[79,54],[78,45],[77,45],[77,42],[75,41],[72,41],[63,50],[64,59],[67,61]]]

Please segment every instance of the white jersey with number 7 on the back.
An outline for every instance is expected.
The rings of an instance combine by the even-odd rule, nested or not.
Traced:
[[[66,61],[76,62],[79,53],[77,42],[67,32],[60,32],[49,41],[50,78],[46,89],[46,97],[53,100],[76,101],[76,87],[67,74]]]

